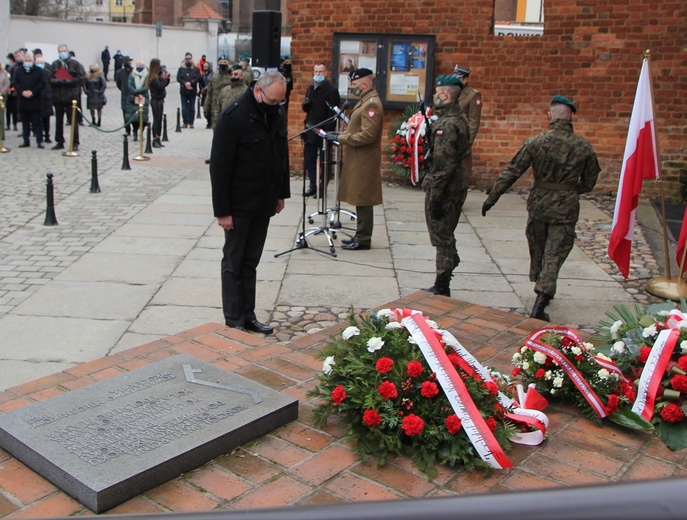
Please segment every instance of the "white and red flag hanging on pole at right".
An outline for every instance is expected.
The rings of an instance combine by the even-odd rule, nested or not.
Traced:
[[[658,153],[654,127],[649,61],[644,59],[627,132],[623,167],[613,213],[608,256],[624,278],[630,271],[630,249],[635,231],[635,212],[644,179],[658,179]]]

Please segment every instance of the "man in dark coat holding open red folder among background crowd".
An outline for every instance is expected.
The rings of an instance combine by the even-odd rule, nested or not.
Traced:
[[[86,71],[81,63],[69,55],[69,48],[64,43],[57,47],[59,58],[50,66],[50,86],[52,87],[52,104],[55,108],[55,146],[53,150],[64,149],[65,115],[74,126],[74,151],[79,149],[79,125],[72,121],[72,101],[81,99],[81,89],[86,80]]]

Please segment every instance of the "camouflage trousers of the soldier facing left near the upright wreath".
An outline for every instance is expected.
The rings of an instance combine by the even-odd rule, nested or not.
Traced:
[[[455,231],[467,196],[468,190],[465,189],[442,200],[444,216],[439,220],[434,220],[429,212],[429,194],[425,194],[425,221],[429,231],[429,240],[437,249],[435,259],[437,275],[452,272],[460,263]]]

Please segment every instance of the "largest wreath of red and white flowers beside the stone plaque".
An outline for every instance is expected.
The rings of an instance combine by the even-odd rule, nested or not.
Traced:
[[[319,353],[322,374],[309,395],[322,399],[315,424],[342,416],[363,460],[408,455],[430,476],[438,463],[506,468],[510,442],[543,440],[546,416],[507,397],[507,377],[422,313],[384,309],[349,321]]]

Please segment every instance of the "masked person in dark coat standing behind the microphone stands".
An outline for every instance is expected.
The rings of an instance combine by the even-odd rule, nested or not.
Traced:
[[[327,66],[317,63],[313,69],[313,83],[305,91],[305,98],[301,103],[301,109],[305,112],[304,127],[317,126],[334,115],[329,107],[338,107],[341,104],[341,96],[338,89],[327,79]],[[321,127],[325,132],[331,132],[336,128],[336,121],[332,121]],[[310,185],[303,193],[304,197],[322,195],[317,193],[317,157],[322,148],[322,138],[315,132],[303,134],[303,163],[308,173]],[[323,157],[320,157],[320,166],[323,165]],[[324,171],[324,168],[320,168]],[[321,191],[324,189],[323,179],[320,177]]]

